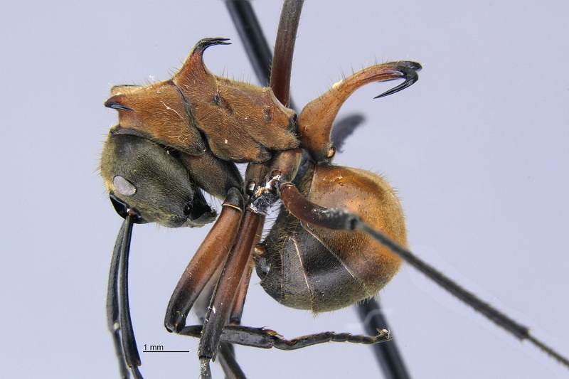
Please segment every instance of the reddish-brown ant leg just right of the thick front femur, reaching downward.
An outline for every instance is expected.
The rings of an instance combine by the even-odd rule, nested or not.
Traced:
[[[233,304],[235,299],[236,288],[245,272],[259,222],[260,216],[257,213],[245,211],[235,244],[213,292],[198,346],[202,378],[211,378],[209,362],[218,348],[221,332],[231,311],[228,304]]]

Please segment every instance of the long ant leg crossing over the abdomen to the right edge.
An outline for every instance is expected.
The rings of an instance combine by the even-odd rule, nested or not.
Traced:
[[[435,269],[435,267],[420,260],[413,252],[410,252],[410,250],[391,240],[385,234],[381,233],[381,231],[364,223],[358,215],[353,215],[346,210],[324,208],[314,204],[303,196],[292,183],[283,183],[280,186],[280,198],[282,204],[285,205],[285,208],[287,208],[294,217],[306,223],[333,230],[361,230],[367,233],[378,242],[381,242],[385,247],[388,247],[389,250],[398,255],[409,265],[418,269],[447,292],[450,292],[454,297],[457,297],[464,302],[464,304],[471,306],[474,311],[483,314],[487,319],[502,329],[509,331],[509,333],[516,336],[516,338],[530,341],[534,346],[540,348],[541,351],[547,353],[559,363],[569,367],[568,358],[561,356],[560,353],[533,337],[526,326],[517,323],[509,316],[506,316],[506,314],[503,314],[490,304],[479,299],[476,295],[472,294],[472,292],[460,287],[459,284],[446,277],[442,272]]]

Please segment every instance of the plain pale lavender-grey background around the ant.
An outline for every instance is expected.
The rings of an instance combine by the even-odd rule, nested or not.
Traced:
[[[270,41],[280,2],[254,4]],[[341,78],[418,60],[420,80],[356,92],[366,116],[336,163],[385,174],[403,201],[411,249],[569,353],[569,5],[307,1],[292,94],[302,107]],[[0,16],[2,145],[0,376],[117,378],[105,323],[107,271],[122,219],[97,166],[117,122],[112,85],[164,80],[203,37],[213,73],[255,82],[221,2],[11,2]],[[217,203],[219,208],[219,204]],[[130,293],[146,378],[197,378],[197,340],[162,326],[171,291],[208,227],[136,225]],[[243,323],[292,338],[362,333],[356,312],[314,317],[258,285]],[[568,370],[519,343],[410,267],[381,292],[410,373],[420,378],[551,378]],[[192,320],[189,318],[188,320]],[[193,322],[193,321],[191,321]],[[380,375],[369,348],[237,348],[250,378]],[[221,378],[214,365],[214,375]]]

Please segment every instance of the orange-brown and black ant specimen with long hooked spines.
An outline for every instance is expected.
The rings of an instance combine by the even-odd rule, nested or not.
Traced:
[[[216,213],[203,191],[223,199],[223,207],[174,289],[164,321],[169,331],[200,338],[203,378],[211,377],[209,362],[216,353],[230,358],[225,343],[302,348],[324,341],[377,343],[389,338],[379,331],[378,336],[319,333],[286,341],[272,331],[239,326],[253,266],[262,287],[281,304],[319,312],[373,297],[395,275],[401,260],[518,338],[569,365],[526,327],[405,248],[403,213],[383,178],[332,164],[331,129],[344,101],[371,82],[404,79],[378,97],[413,85],[421,68],[418,63],[373,65],[336,83],[298,117],[288,108],[301,7],[302,2],[285,3],[270,88],[210,73],[203,64],[204,51],[227,40],[204,38],[171,80],[113,87],[105,102],[119,112],[119,124],[102,152],[101,174],[117,213],[125,219],[113,252],[107,297],[122,375],[128,375],[129,366],[135,377],[142,377],[127,288],[132,224],[211,223]],[[307,159],[302,159],[303,153]],[[248,163],[244,179],[235,166],[239,162]],[[279,200],[280,215],[259,243],[263,215]],[[188,312],[211,280],[216,287],[203,326],[186,327]],[[238,368],[228,365],[226,370],[228,375],[243,376]]]

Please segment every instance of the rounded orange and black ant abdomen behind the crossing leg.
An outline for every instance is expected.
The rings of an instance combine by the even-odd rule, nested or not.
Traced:
[[[381,176],[312,164],[298,188],[310,201],[360,215],[406,245],[403,210]],[[265,241],[255,247],[255,265],[261,286],[275,300],[323,312],[376,295],[398,271],[400,259],[365,233],[302,223],[282,208]]]

